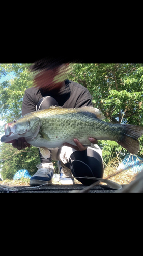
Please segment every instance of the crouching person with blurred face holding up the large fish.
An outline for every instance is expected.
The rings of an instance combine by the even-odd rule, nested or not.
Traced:
[[[81,108],[82,106],[92,106],[91,94],[81,84],[64,79],[66,65],[60,63],[42,61],[32,65],[31,70],[36,71],[34,78],[35,87],[25,90],[22,103],[22,116],[50,106],[62,106],[63,108]],[[66,73],[66,72],[65,72]],[[95,138],[89,138],[93,144],[97,144]],[[96,145],[95,148],[84,147],[76,138],[75,146],[64,143],[59,150],[52,150],[50,158],[44,159],[40,155],[41,163],[37,165],[38,171],[30,180],[31,186],[41,184],[51,184],[54,173],[53,160],[58,161],[60,179],[63,184],[72,184],[72,177],[97,177],[102,178],[104,167],[102,153]],[[14,148],[21,150],[30,147],[24,138],[14,140]],[[73,175],[73,176],[72,176]],[[64,178],[70,176],[71,178]],[[90,185],[95,180],[77,178],[84,185]]]

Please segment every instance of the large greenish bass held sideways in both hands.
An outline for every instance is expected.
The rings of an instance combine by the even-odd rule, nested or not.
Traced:
[[[130,153],[137,154],[140,149],[138,138],[143,135],[143,127],[113,124],[104,119],[102,112],[92,106],[51,106],[5,124],[5,135],[1,137],[1,142],[24,137],[29,144],[39,147],[45,159],[50,157],[49,149],[61,148],[65,142],[76,145],[73,141],[75,138],[84,146],[94,147],[89,137],[116,141]]]

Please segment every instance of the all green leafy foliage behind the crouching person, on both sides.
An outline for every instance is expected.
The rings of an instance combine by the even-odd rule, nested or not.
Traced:
[[[105,115],[106,122],[129,123],[143,126],[143,65],[142,64],[73,64],[69,79],[85,86],[92,95],[93,106]],[[11,122],[21,116],[24,91],[32,85],[30,64],[2,64],[0,77],[14,72],[14,78],[0,83],[1,120]],[[1,127],[4,132],[4,127]],[[143,154],[143,137],[140,152]],[[107,164],[120,153],[123,159],[127,151],[114,141],[99,141],[103,160]],[[0,148],[3,179],[11,179],[20,169],[33,175],[40,163],[37,148],[17,151],[12,145],[3,143]],[[54,161],[56,166],[56,162]]]

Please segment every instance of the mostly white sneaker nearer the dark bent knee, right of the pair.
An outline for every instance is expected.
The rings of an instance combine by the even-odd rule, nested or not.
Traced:
[[[66,178],[66,177],[69,177],[69,176],[73,177],[71,170],[68,167],[66,167],[63,163],[61,163],[61,161],[57,162],[57,166],[58,166],[58,169],[59,169],[60,182],[62,183],[62,185],[74,184],[74,179]]]

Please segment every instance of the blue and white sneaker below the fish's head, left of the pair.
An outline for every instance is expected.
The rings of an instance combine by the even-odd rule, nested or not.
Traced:
[[[42,184],[52,184],[54,173],[53,163],[37,164],[38,171],[31,177],[30,186],[39,186]]]

